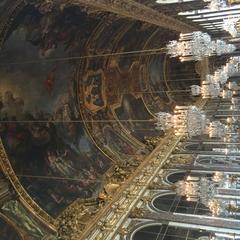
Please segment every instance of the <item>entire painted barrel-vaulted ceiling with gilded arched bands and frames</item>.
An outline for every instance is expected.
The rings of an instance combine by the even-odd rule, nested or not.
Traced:
[[[2,1],[0,12],[8,4]],[[85,10],[46,13],[26,5],[14,13],[0,51],[0,137],[10,166],[5,174],[17,177],[50,219],[79,199],[99,204],[110,180],[129,178],[150,153],[145,138],[163,134],[152,130],[154,113],[174,106],[164,93],[164,53],[118,53],[162,48],[176,33]],[[176,86],[188,85],[170,87]],[[30,233],[27,240],[41,239],[44,231],[18,201],[2,211],[12,221],[18,219],[14,212],[24,215],[28,225],[19,227]]]

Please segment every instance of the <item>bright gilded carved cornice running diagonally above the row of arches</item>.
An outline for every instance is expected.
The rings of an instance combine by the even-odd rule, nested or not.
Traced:
[[[172,132],[169,132],[156,150],[150,154],[123,186],[121,186],[112,201],[89,224],[81,238],[76,236],[75,239],[104,240],[109,235],[114,234],[121,221],[131,212],[133,205],[143,196],[148,184],[159,172],[162,164],[169,157],[179,141],[180,137],[176,137]]]

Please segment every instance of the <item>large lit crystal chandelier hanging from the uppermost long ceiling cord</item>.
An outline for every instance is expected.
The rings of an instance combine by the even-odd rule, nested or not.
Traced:
[[[212,41],[209,34],[200,31],[181,33],[179,41],[170,41],[166,48],[171,57],[179,57],[182,62],[198,61],[207,56],[220,56],[236,50],[233,44],[222,40]]]

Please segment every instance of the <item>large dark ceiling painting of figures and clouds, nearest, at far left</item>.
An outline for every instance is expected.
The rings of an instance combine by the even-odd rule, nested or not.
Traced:
[[[46,18],[36,9],[25,10],[6,42],[1,62],[7,56],[10,64],[0,70],[1,137],[25,189],[57,216],[76,198],[96,193],[110,160],[92,144],[81,123],[73,93],[74,66],[44,61],[67,56],[75,47],[82,15],[67,9]]]

